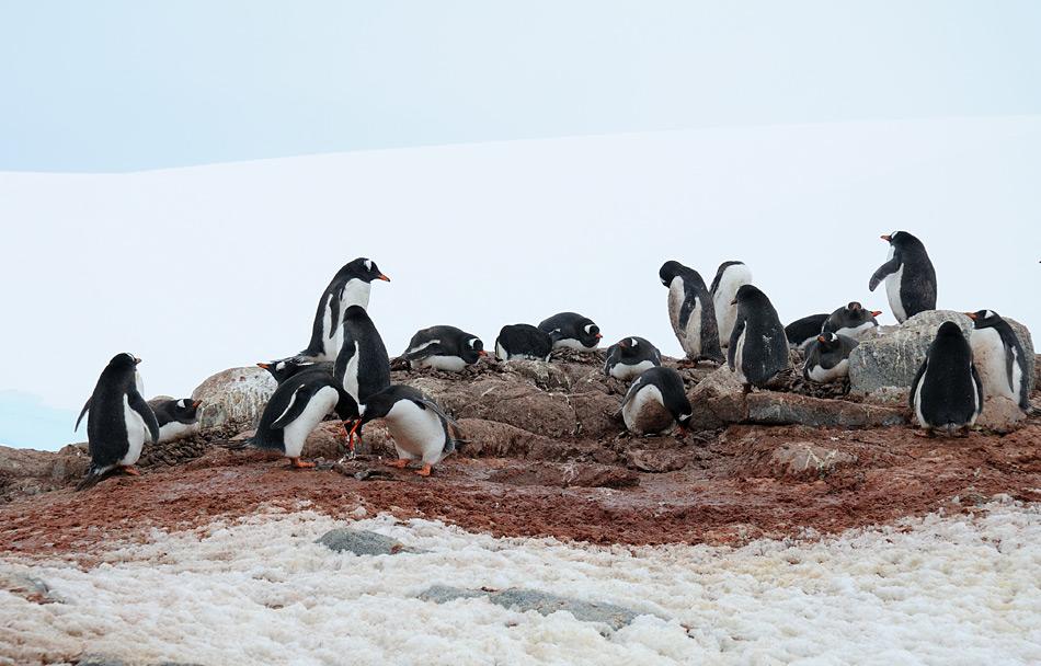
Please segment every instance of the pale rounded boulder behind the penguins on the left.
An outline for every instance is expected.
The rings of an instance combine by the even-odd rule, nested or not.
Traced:
[[[203,401],[199,427],[205,429],[226,423],[255,427],[275,388],[274,378],[262,368],[217,372],[192,391],[193,400]]]

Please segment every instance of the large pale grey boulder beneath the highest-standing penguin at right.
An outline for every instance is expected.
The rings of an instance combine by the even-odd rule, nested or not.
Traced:
[[[872,402],[904,402],[918,366],[925,360],[936,330],[945,321],[957,323],[966,336],[972,320],[961,312],[929,310],[919,312],[900,326],[882,326],[878,337],[861,342],[849,355],[850,394]],[[1030,332],[1019,322],[1006,319],[1033,361]],[[1033,377],[1033,366],[1028,377]]]

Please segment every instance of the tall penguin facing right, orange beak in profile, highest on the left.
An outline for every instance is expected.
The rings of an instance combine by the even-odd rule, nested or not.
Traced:
[[[368,308],[374,279],[390,282],[373,260],[363,256],[340,268],[318,300],[314,324],[311,326],[311,342],[297,356],[307,360],[336,360],[336,354],[343,344],[343,313],[351,306]]]

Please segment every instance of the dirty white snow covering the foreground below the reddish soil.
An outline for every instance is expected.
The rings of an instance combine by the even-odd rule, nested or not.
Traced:
[[[218,664],[1038,664],[1041,508],[905,520],[742,548],[593,548],[361,520],[423,549],[338,554],[302,509],[155,532],[89,570],[0,560],[62,601],[0,592],[0,662],[81,653]],[[617,631],[460,599],[525,587],[645,613]]]

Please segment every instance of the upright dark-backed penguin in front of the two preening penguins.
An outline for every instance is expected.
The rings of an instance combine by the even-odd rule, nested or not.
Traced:
[[[734,298],[737,319],[730,333],[727,365],[745,386],[763,388],[789,367],[788,338],[770,299],[752,285],[742,285]]]

